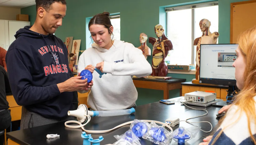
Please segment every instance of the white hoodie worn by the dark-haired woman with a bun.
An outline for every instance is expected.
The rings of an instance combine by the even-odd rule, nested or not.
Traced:
[[[99,47],[96,43],[91,46],[79,57],[77,72],[84,70],[87,65],[96,66],[104,60],[103,72],[107,74],[99,78],[99,74],[93,72],[93,86],[87,98],[89,106],[93,110],[132,107],[138,98],[133,75],[143,77],[152,73],[142,51],[131,43],[119,40],[114,40],[114,45],[109,50]]]

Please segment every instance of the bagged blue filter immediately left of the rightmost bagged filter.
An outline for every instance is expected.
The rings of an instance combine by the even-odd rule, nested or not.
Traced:
[[[158,126],[154,122],[150,123],[150,130],[148,130],[142,138],[159,145],[169,145],[172,139],[171,133],[168,130]]]

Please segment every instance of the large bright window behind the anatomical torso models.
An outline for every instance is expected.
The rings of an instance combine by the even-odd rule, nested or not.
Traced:
[[[202,36],[199,22],[208,19],[210,32],[218,32],[218,3],[200,3],[166,8],[167,38],[173,44],[165,61],[167,64],[196,64],[195,38]],[[218,42],[217,42],[218,43]]]

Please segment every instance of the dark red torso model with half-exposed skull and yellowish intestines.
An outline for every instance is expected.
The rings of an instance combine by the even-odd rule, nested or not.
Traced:
[[[152,74],[153,76],[166,76],[168,67],[165,63],[169,50],[173,50],[171,41],[163,33],[163,26],[155,26],[155,34],[158,38],[149,37],[149,43],[153,45]]]

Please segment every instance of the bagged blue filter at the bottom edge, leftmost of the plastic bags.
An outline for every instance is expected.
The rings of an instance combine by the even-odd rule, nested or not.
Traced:
[[[117,142],[113,143],[113,145],[141,145],[139,139],[131,130],[126,131],[122,135],[115,135]]]

